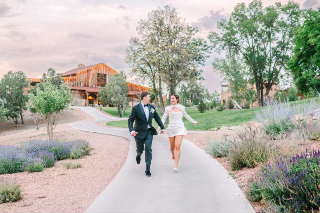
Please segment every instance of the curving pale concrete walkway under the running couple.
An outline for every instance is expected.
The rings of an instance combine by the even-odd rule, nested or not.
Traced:
[[[167,136],[154,136],[152,176],[146,177],[144,154],[137,165],[129,130],[95,125],[120,119],[91,107],[79,108],[96,120],[70,123],[70,127],[130,140],[124,166],[85,212],[255,212],[221,164],[190,141],[183,139],[179,171],[174,173]]]

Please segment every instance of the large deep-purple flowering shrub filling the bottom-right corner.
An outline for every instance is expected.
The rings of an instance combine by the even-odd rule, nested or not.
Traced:
[[[277,157],[265,165],[247,194],[264,199],[267,212],[313,212],[320,208],[320,151]]]

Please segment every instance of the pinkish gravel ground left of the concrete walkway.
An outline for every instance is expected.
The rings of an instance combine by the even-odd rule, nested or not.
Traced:
[[[73,108],[73,110],[72,110]],[[36,130],[31,113],[25,112],[25,124],[0,122],[0,145],[19,145],[30,139],[48,139],[43,127]],[[94,148],[77,160],[62,160],[42,172],[2,175],[17,178],[23,188],[22,199],[0,205],[0,212],[84,212],[123,166],[129,141],[125,138],[75,130],[67,123],[93,118],[81,109],[70,107],[61,114],[53,137],[57,140],[87,140]],[[64,169],[66,162],[82,164],[79,169]]]

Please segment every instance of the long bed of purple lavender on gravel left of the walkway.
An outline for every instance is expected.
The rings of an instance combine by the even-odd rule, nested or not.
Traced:
[[[0,174],[20,171],[36,172],[62,159],[77,159],[91,151],[85,140],[58,142],[53,140],[31,140],[16,146],[0,146]]]

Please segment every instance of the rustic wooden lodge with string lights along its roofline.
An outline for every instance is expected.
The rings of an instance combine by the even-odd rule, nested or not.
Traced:
[[[77,68],[69,70],[62,74],[62,79],[66,83],[73,83],[71,90],[79,91],[82,96],[82,105],[88,106],[89,104],[99,104],[98,97],[101,88],[105,87],[109,82],[110,76],[117,73],[114,69],[104,63],[85,66],[79,64]],[[36,83],[40,83],[40,79],[31,79],[30,85],[34,86]],[[148,87],[144,87],[138,84],[127,82],[129,92],[129,106],[134,106],[139,103],[139,95],[141,92],[150,90]]]

